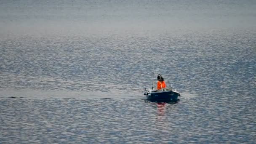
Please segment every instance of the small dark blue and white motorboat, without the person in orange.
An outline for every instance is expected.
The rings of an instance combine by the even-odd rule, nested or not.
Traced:
[[[163,88],[161,90],[146,89],[144,95],[149,101],[157,102],[175,102],[178,101],[178,96],[181,96],[179,92],[171,88]]]

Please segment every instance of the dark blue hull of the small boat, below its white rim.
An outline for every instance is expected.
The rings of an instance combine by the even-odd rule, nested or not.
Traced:
[[[179,93],[174,91],[159,91],[159,92],[152,92],[146,95],[147,100],[149,101],[157,101],[157,102],[174,102],[178,101]]]

